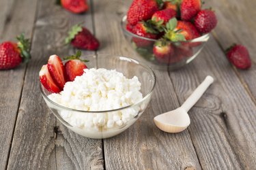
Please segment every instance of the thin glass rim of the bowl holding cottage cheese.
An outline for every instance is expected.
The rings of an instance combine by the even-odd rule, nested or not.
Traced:
[[[87,114],[104,114],[106,112],[117,112],[117,111],[122,110],[122,109],[128,109],[130,107],[134,107],[136,105],[139,105],[140,103],[142,103],[143,101],[145,101],[146,99],[148,99],[148,97],[150,97],[152,95],[152,93],[154,91],[154,88],[156,86],[156,74],[154,73],[154,70],[150,66],[145,65],[145,64],[143,64],[143,63],[141,63],[137,60],[134,60],[132,58],[128,58],[124,55],[119,55],[119,54],[86,54],[86,55],[83,55],[83,57],[88,57],[88,56],[93,56],[94,57],[94,56],[98,56],[98,55],[111,56],[111,57],[119,58],[123,61],[133,62],[133,63],[136,63],[137,65],[141,65],[145,69],[149,70],[151,72],[150,75],[152,75],[152,77],[154,79],[154,84],[153,84],[152,88],[150,89],[150,92],[147,92],[147,95],[145,95],[145,97],[143,97],[140,101],[138,101],[137,103],[134,103],[132,105],[126,105],[125,107],[120,107],[118,109],[109,109],[109,110],[101,110],[101,111],[85,111],[85,110],[81,110],[81,109],[72,109],[70,107],[59,105],[55,101],[52,101],[51,99],[49,99],[48,95],[46,95],[46,93],[43,90],[43,89],[45,89],[44,86],[42,85],[42,83],[39,80],[39,82],[40,82],[40,92],[41,92],[42,96],[44,97],[44,99],[46,99],[47,101],[49,101],[53,105],[55,105],[57,107],[60,107],[61,109],[66,109],[66,110],[69,110],[69,111],[72,111],[72,112],[81,112],[81,113],[87,113]],[[134,76],[136,76],[136,75],[134,75]]]

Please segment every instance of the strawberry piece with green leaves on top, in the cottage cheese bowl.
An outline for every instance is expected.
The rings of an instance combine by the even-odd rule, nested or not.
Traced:
[[[80,56],[81,56],[81,51],[78,51],[76,52],[76,56],[68,56],[67,58],[65,58],[65,59],[70,58],[70,61],[68,61],[64,65],[65,78],[67,82],[74,81],[74,78],[76,78],[76,76],[83,75],[84,73],[83,69],[87,68],[87,66],[84,63],[87,61],[81,60]]]

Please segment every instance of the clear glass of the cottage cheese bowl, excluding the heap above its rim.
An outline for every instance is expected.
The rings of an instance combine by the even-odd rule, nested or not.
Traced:
[[[115,69],[123,73],[126,78],[133,78],[136,75],[139,82],[141,82],[143,99],[138,103],[119,109],[85,112],[55,103],[48,97],[48,95],[51,95],[51,92],[48,92],[40,83],[40,90],[44,101],[62,124],[79,135],[92,139],[104,139],[122,133],[136,122],[150,103],[156,84],[154,71],[138,61],[124,56],[97,54],[82,56],[81,58],[89,60],[89,63],[86,63],[88,68]],[[115,121],[114,123],[113,120]],[[109,126],[108,123],[112,125]]]

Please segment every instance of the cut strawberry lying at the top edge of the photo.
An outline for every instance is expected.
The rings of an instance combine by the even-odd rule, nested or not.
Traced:
[[[75,14],[87,12],[89,8],[86,0],[61,0],[61,5]]]

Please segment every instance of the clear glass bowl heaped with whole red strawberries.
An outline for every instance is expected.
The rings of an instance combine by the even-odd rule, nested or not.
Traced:
[[[201,0],[136,0],[121,28],[139,58],[156,69],[177,69],[201,52],[216,27],[214,11]]]

